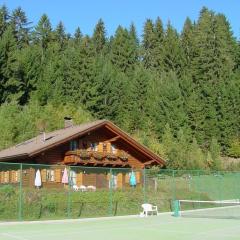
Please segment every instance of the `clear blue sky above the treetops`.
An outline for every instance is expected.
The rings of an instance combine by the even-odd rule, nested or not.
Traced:
[[[79,26],[84,34],[92,34],[96,22],[102,18],[108,36],[114,34],[118,25],[128,27],[131,22],[141,34],[145,20],[157,16],[164,24],[170,20],[180,31],[187,16],[196,20],[200,9],[206,6],[224,13],[234,35],[240,37],[239,0],[0,0],[2,4],[10,10],[21,6],[34,24],[46,13],[53,26],[62,20],[70,33]]]

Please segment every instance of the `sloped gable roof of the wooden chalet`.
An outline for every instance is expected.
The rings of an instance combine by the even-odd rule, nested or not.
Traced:
[[[84,123],[81,125],[45,133],[45,141],[43,140],[43,135],[38,135],[35,138],[29,139],[13,147],[0,151],[0,161],[32,157],[102,126],[106,126],[110,131],[115,132],[123,140],[127,141],[133,147],[137,148],[144,155],[147,155],[151,159],[156,160],[161,165],[165,165],[165,161],[158,155],[154,154],[148,148],[135,141],[127,133],[122,131],[120,128],[108,120],[97,120],[94,122]]]

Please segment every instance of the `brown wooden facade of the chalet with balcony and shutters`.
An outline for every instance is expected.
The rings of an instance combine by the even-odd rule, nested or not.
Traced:
[[[62,132],[70,130],[65,129]],[[56,136],[59,134],[56,133]],[[23,186],[34,186],[36,170],[39,169],[43,187],[63,188],[62,175],[64,169],[67,168],[72,185],[94,186],[96,189],[108,188],[109,168],[111,168],[118,169],[111,175],[114,187],[122,188],[129,185],[129,170],[126,169],[132,169],[135,172],[137,184],[140,184],[142,182],[141,169],[151,165],[164,166],[162,159],[136,143],[108,121],[49,145],[43,143],[42,148],[29,153],[25,158],[20,158],[20,155],[19,158],[15,155],[12,159],[7,158],[8,161],[31,164],[23,169]],[[19,170],[5,169],[3,171],[0,169],[0,184],[18,183],[19,175]]]

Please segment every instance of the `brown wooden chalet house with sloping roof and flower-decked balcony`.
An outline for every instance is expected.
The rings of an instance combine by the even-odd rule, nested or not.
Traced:
[[[34,186],[36,170],[40,169],[43,187],[54,188],[63,187],[61,179],[66,165],[71,166],[74,184],[96,188],[109,186],[109,173],[104,169],[118,169],[114,171],[115,187],[121,188],[129,183],[129,174],[124,169],[165,165],[162,158],[110,121],[98,120],[75,126],[71,119],[65,120],[64,129],[41,134],[0,151],[0,162],[31,164],[24,167],[23,184]],[[19,181],[19,170],[1,169],[1,166],[0,184]],[[83,167],[92,168],[84,170]],[[136,172],[136,178],[140,183],[140,172]]]

